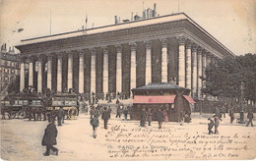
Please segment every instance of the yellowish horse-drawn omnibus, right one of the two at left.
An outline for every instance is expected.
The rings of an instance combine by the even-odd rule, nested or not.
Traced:
[[[47,112],[63,108],[66,119],[76,119],[79,114],[78,97],[75,93],[54,93],[49,100]]]

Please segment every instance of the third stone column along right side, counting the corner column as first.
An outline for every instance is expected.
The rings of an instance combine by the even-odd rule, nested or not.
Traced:
[[[197,96],[197,80],[198,80],[198,73],[197,73],[197,46],[193,46],[192,48],[192,95],[193,97]]]

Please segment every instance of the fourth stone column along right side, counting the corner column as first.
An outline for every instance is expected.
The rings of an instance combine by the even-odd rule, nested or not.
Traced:
[[[201,89],[202,89],[202,85],[203,85],[203,81],[202,81],[202,50],[199,49],[197,51],[197,73],[198,73],[198,77],[197,77],[197,81],[198,81],[198,91],[197,91],[197,96],[198,96],[198,99],[201,99],[202,98],[202,92],[201,92]]]

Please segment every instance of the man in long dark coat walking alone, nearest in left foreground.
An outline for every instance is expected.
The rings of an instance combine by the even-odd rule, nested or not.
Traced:
[[[57,144],[57,141],[56,141],[57,134],[58,134],[58,131],[55,126],[55,120],[51,120],[50,124],[44,130],[44,134],[41,140],[41,145],[46,146],[46,152],[43,153],[44,156],[50,155],[50,149],[52,149],[53,152],[55,152],[55,154],[58,155],[59,150],[53,146]]]

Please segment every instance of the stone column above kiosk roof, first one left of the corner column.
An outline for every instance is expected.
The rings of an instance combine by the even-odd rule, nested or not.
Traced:
[[[168,81],[167,39],[161,39],[161,82]]]

